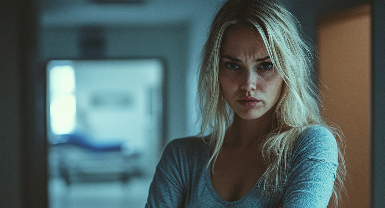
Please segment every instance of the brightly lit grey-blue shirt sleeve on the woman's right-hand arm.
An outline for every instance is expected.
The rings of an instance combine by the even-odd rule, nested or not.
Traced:
[[[298,138],[283,208],[326,208],[338,167],[338,146],[325,127],[313,126]]]

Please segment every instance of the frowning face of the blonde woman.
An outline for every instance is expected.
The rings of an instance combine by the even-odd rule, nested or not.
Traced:
[[[235,113],[256,119],[278,101],[282,77],[274,68],[261,35],[250,27],[234,27],[221,47],[219,82],[223,97]]]

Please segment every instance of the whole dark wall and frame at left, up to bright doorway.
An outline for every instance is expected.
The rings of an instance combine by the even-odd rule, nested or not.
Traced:
[[[0,207],[46,207],[44,74],[32,0],[0,1]],[[43,104],[43,105],[42,105]]]

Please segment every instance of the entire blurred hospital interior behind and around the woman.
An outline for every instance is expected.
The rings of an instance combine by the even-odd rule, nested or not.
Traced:
[[[164,145],[199,133],[219,2],[0,3],[0,207],[144,207]],[[318,47],[324,116],[346,136],[345,206],[383,207],[385,3],[282,3]]]

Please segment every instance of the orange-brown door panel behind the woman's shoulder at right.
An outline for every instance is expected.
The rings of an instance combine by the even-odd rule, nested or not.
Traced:
[[[371,199],[371,11],[370,5],[321,17],[318,84],[324,117],[346,140],[346,207],[369,208]]]

